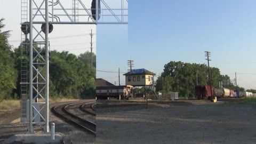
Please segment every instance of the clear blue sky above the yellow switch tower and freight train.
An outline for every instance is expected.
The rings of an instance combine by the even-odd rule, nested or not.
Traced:
[[[206,63],[211,51],[211,66],[232,79],[237,71],[239,86],[256,89],[255,7],[253,0],[130,1],[128,26],[97,26],[97,68],[125,72],[131,58],[134,68],[159,74],[170,61]],[[118,82],[114,73],[97,77]]]

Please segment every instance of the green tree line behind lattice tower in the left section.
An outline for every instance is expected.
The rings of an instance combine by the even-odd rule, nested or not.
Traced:
[[[5,26],[3,21],[4,19],[0,19],[0,102],[3,99],[20,98],[21,59],[27,59],[29,62],[29,58],[21,54],[23,46],[20,45],[12,50],[8,42],[10,31],[3,31]],[[37,50],[41,49],[37,45],[35,47]],[[94,53],[92,69],[91,53],[88,51],[78,56],[67,51],[51,51],[49,60],[50,97],[95,97],[96,55]],[[38,66],[38,69],[45,73],[45,68],[42,66]],[[29,78],[29,71],[27,72]],[[27,81],[29,82],[29,79]]]

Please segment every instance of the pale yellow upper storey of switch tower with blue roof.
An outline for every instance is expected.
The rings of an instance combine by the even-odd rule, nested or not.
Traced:
[[[133,69],[132,71],[124,74],[125,85],[132,86],[149,86],[153,85],[154,73],[147,69]]]

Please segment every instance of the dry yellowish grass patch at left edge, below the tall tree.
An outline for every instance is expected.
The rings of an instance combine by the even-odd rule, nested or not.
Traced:
[[[3,100],[0,102],[0,111],[15,110],[20,108],[20,100]]]

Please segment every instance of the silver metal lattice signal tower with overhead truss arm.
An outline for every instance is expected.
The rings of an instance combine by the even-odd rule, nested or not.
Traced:
[[[22,0],[25,1],[28,0]],[[29,82],[23,81],[21,85],[29,85],[29,132],[34,132],[33,124],[42,124],[44,131],[49,132],[49,30],[53,29],[52,24],[127,24],[128,1],[29,0],[26,10],[27,14],[29,10],[29,23],[25,24],[29,28],[29,41],[22,44],[29,48],[26,53],[29,54]],[[26,10],[21,13],[25,15]],[[25,17],[22,20],[26,21]],[[40,102],[36,101],[38,98]]]

